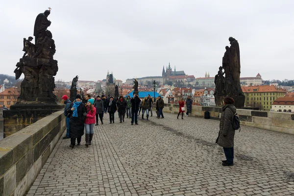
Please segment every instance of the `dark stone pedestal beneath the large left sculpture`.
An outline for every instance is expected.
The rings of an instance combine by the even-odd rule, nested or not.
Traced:
[[[3,137],[25,128],[50,114],[64,109],[64,104],[58,102],[18,102],[3,111]]]

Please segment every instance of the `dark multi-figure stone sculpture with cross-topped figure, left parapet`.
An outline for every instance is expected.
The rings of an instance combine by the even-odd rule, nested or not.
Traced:
[[[27,40],[24,38],[25,54],[17,63],[14,71],[16,79],[22,73],[25,75],[18,101],[56,101],[53,91],[55,88],[54,76],[58,71],[58,66],[57,61],[53,60],[56,49],[52,33],[47,30],[47,27],[51,25],[47,19],[49,14],[50,11],[46,10],[36,18],[35,45],[31,43],[32,37],[28,37]]]

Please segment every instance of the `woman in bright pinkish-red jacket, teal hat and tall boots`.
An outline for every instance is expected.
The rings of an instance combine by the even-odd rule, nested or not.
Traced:
[[[85,120],[85,129],[86,129],[86,144],[85,146],[88,147],[92,145],[92,138],[94,135],[94,126],[96,123],[95,115],[96,115],[96,108],[93,105],[94,100],[92,98],[88,99],[87,102],[87,116]]]

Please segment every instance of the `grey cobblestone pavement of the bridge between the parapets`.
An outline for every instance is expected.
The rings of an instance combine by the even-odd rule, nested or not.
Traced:
[[[149,117],[95,126],[94,144],[60,140],[27,196],[294,195],[294,135],[242,127],[234,166],[215,144],[219,121]]]

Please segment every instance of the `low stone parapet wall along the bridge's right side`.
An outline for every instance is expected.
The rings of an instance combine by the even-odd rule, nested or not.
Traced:
[[[222,112],[220,107],[192,106],[189,116],[204,118],[205,111],[209,111],[211,119],[220,120]],[[163,112],[177,114],[179,112],[179,105],[165,104]],[[240,117],[241,125],[294,135],[294,113],[247,109],[237,109],[237,113]]]

